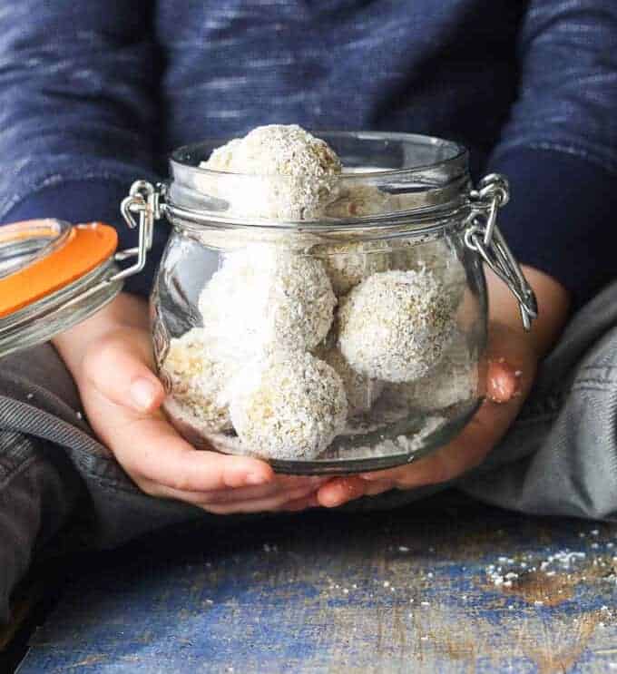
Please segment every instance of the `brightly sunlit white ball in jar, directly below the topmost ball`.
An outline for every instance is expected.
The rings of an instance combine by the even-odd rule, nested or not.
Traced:
[[[244,358],[317,347],[336,304],[318,259],[259,244],[228,255],[199,299],[204,327]]]

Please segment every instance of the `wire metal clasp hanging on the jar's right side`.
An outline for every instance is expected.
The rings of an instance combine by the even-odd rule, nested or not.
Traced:
[[[469,194],[472,210],[465,219],[465,245],[478,253],[485,263],[510,288],[518,300],[525,330],[538,316],[538,304],[523,271],[497,227],[497,213],[510,199],[504,176],[491,173],[480,181],[478,190]]]

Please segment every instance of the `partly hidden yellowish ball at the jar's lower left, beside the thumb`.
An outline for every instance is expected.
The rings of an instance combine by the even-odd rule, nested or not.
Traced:
[[[220,393],[236,369],[220,357],[200,327],[171,339],[161,370],[169,390],[163,403],[165,411],[201,432],[229,430],[230,412]]]

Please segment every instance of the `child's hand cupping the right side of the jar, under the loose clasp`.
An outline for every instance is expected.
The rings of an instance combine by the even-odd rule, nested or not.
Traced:
[[[525,269],[525,274],[534,287],[541,312],[531,334],[524,333],[518,308],[507,288],[493,274],[487,274],[491,324],[486,400],[465,430],[435,454],[412,464],[332,480],[319,488],[318,503],[334,507],[390,489],[444,483],[483,462],[518,415],[534,383],[538,360],[561,332],[567,316],[568,299],[563,288],[534,269]]]

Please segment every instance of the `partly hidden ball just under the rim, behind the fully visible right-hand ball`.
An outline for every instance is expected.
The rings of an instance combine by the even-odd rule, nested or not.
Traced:
[[[340,298],[364,278],[389,269],[390,259],[384,241],[355,241],[319,244],[312,254],[321,260],[334,294]]]

